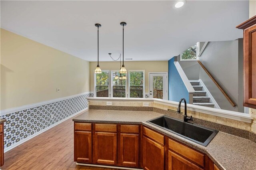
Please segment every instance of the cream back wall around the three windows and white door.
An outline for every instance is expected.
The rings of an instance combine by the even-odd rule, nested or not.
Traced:
[[[90,62],[90,91],[94,91],[94,70],[97,62]],[[120,62],[108,61],[99,62],[102,70],[119,70]],[[149,72],[168,72],[168,61],[124,61],[127,70],[143,69],[145,70],[145,91],[148,93],[148,73]]]

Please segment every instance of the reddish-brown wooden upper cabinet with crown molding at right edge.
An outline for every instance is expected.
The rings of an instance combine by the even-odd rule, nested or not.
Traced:
[[[244,30],[244,106],[256,109],[256,16],[236,28]]]

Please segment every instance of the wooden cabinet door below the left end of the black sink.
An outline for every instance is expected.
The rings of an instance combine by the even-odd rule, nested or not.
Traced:
[[[164,170],[164,146],[143,136],[143,168]]]

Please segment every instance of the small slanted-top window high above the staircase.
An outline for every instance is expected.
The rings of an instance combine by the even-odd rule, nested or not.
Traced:
[[[188,49],[186,49],[184,52],[180,54],[180,61],[191,61],[191,60],[197,60],[198,59],[198,46],[199,43],[196,43],[195,45],[192,45]]]

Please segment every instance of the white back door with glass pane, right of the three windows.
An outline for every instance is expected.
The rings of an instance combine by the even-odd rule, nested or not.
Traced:
[[[167,100],[167,73],[149,73],[149,97]]]

